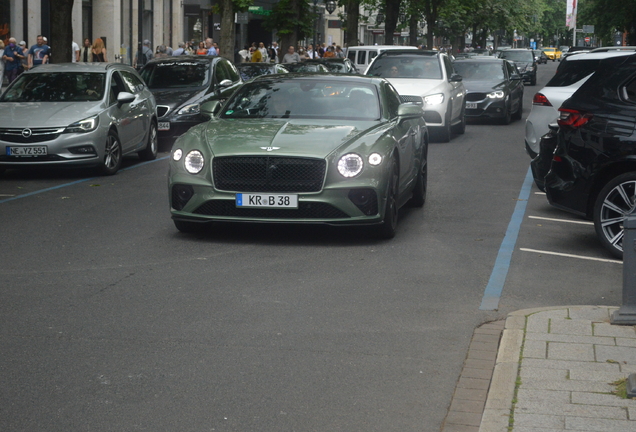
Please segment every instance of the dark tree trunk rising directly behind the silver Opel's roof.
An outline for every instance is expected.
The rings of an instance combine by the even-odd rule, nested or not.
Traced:
[[[75,55],[72,47],[72,12],[73,0],[58,0],[55,5],[51,4],[51,34],[45,35],[49,38],[48,45],[51,47],[50,63],[68,63]]]

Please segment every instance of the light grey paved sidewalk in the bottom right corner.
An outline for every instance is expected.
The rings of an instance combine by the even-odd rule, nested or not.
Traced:
[[[480,426],[452,429],[636,431],[636,399],[612,394],[611,383],[636,373],[636,328],[609,324],[616,309],[563,306],[509,314]]]

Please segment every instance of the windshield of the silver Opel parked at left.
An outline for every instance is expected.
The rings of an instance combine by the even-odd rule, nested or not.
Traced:
[[[105,73],[50,72],[22,74],[0,98],[2,102],[88,102],[104,97]]]

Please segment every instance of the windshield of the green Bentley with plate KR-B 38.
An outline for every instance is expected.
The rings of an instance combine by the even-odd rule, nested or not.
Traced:
[[[293,80],[247,83],[221,118],[378,120],[376,87],[359,82]]]

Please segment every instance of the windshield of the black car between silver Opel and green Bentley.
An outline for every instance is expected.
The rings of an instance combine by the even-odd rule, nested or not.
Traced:
[[[141,77],[151,89],[201,87],[209,80],[209,63],[174,61],[150,63]]]

